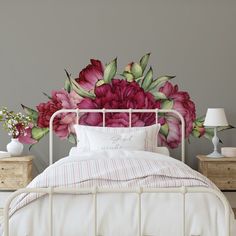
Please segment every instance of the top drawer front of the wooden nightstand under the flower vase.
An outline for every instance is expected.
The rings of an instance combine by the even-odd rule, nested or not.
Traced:
[[[22,175],[23,170],[23,165],[19,163],[0,163],[0,177]]]

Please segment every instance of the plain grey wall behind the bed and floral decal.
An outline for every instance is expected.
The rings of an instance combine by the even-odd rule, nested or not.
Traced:
[[[90,58],[119,59],[119,66],[152,52],[155,74],[176,75],[189,91],[197,114],[224,107],[236,125],[236,1],[234,0],[0,0],[0,105],[20,110],[46,100],[43,92],[61,88],[64,68],[73,75]],[[236,130],[219,134],[236,146]],[[0,148],[9,138],[1,131]],[[190,139],[188,164],[212,144]],[[57,144],[63,156],[69,146]],[[27,153],[27,148],[25,150]],[[47,140],[31,151],[41,170]]]

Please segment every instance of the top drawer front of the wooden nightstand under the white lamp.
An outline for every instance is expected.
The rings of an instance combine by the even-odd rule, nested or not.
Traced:
[[[236,165],[232,165],[230,162],[209,162],[207,167],[208,176],[231,176],[236,178]]]

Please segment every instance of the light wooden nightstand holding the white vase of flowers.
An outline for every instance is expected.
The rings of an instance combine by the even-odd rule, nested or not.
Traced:
[[[0,190],[24,188],[32,180],[33,156],[0,159]]]

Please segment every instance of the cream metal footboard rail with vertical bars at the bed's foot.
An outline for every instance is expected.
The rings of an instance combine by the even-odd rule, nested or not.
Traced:
[[[137,193],[138,195],[138,236],[145,236],[142,234],[142,194],[143,193],[180,193],[182,194],[182,236],[187,236],[186,234],[186,194],[192,193],[209,193],[213,194],[219,198],[224,207],[224,219],[225,219],[225,234],[222,236],[230,236],[230,208],[227,200],[225,199],[223,193],[220,191],[209,189],[205,187],[176,187],[176,188],[142,188],[138,187],[135,189],[130,188],[24,188],[14,192],[7,200],[4,208],[4,236],[9,236],[9,209],[11,202],[22,193],[44,193],[48,194],[48,220],[49,229],[48,236],[53,236],[53,194],[92,194],[93,195],[93,208],[94,208],[94,236],[101,236],[98,234],[97,227],[97,195],[99,193]],[[152,236],[152,235],[149,235]],[[153,235],[154,236],[154,235]]]

